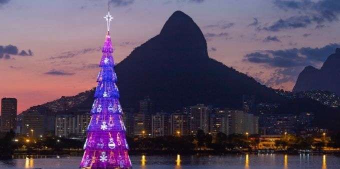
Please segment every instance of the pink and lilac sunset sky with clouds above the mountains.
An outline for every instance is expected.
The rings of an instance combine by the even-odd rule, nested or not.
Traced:
[[[340,0],[111,0],[111,5],[116,63],[157,35],[176,10],[201,28],[211,58],[273,88],[291,91],[305,66],[319,68],[340,46]],[[0,0],[0,98],[17,98],[21,113],[94,87],[106,12],[107,0]]]

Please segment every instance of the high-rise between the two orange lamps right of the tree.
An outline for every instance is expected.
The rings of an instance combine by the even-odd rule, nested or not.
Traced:
[[[151,118],[151,136],[160,137],[169,135],[169,115],[156,113]]]

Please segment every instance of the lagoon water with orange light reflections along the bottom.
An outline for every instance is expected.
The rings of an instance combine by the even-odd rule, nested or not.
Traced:
[[[0,169],[78,169],[81,157],[19,156]],[[133,169],[340,169],[333,155],[130,156]]]

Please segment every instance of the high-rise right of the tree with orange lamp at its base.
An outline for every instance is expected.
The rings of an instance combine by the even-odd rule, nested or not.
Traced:
[[[151,136],[151,115],[142,112],[133,115],[134,136]]]

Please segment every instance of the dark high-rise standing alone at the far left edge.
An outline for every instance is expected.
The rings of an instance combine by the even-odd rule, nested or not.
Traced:
[[[15,98],[1,99],[1,122],[0,132],[9,132],[16,130],[16,109],[17,100]]]

